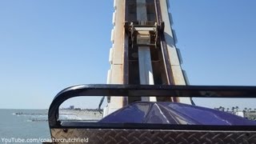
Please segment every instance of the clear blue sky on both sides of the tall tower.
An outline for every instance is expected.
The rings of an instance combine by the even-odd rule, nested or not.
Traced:
[[[254,0],[170,1],[190,85],[256,86],[255,7]],[[0,108],[48,108],[67,86],[106,83],[113,11],[112,0],[1,0]],[[194,101],[255,107],[255,100]]]

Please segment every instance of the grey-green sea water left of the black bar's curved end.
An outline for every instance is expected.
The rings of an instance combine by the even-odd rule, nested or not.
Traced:
[[[50,138],[47,111],[0,109],[0,138]]]

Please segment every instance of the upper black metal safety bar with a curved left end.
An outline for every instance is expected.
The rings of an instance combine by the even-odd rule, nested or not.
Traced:
[[[62,102],[78,96],[256,98],[256,86],[162,86],[162,85],[78,85],[59,92],[50,104],[50,127],[61,126],[58,109]]]

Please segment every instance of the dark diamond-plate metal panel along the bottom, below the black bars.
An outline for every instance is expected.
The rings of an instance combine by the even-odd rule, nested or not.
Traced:
[[[84,138],[87,143],[256,143],[255,131],[52,129],[53,138]],[[74,143],[74,142],[73,142]],[[78,142],[77,142],[78,143]]]

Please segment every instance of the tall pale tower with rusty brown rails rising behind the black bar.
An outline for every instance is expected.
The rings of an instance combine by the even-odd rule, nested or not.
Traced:
[[[114,0],[108,84],[186,85],[168,12],[168,0]],[[105,115],[135,101],[182,102],[190,98],[109,97]]]

